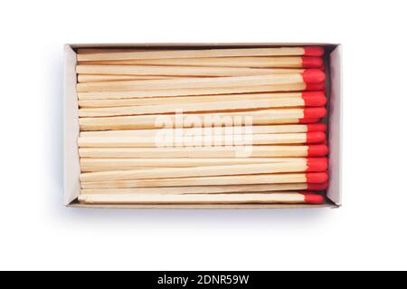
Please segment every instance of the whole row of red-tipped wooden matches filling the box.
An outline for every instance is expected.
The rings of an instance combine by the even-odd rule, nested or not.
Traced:
[[[323,203],[323,54],[79,49],[80,203]]]

